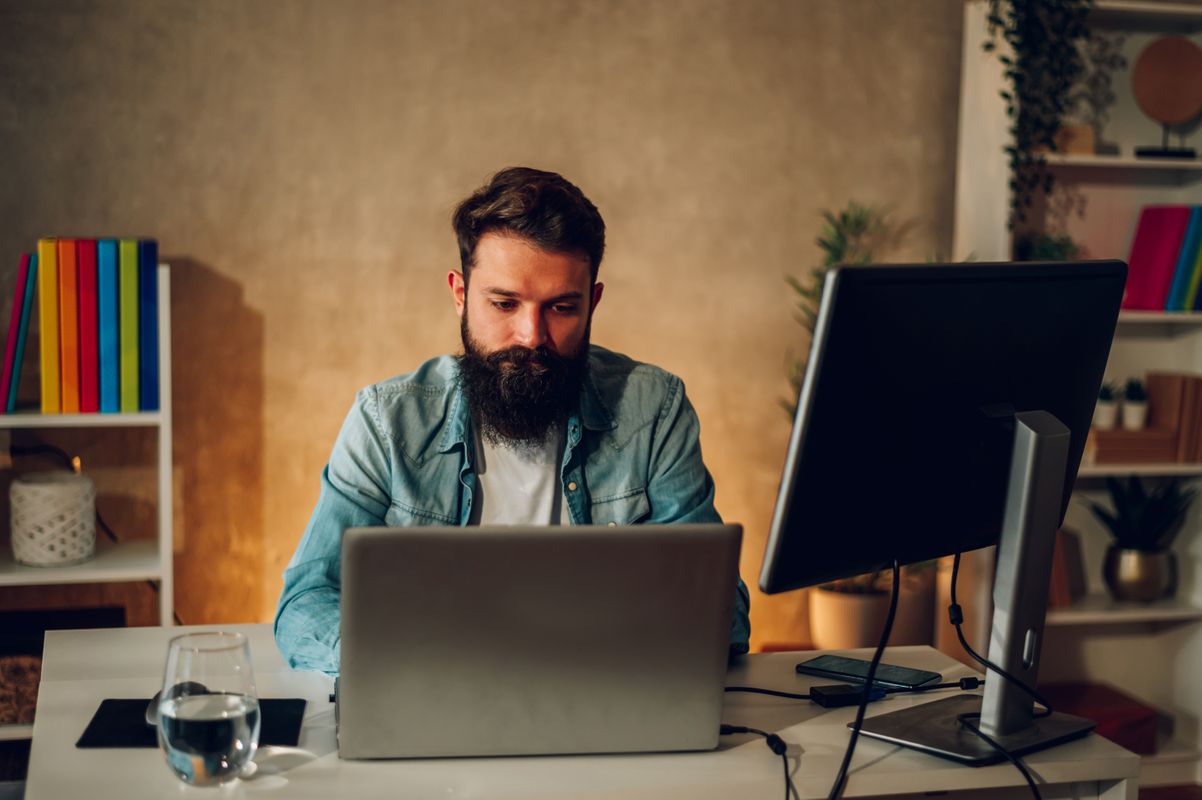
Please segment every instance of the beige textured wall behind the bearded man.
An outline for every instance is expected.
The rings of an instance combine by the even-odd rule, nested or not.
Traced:
[[[892,256],[948,251],[959,31],[960,0],[0,0],[0,289],[41,234],[161,240],[177,605],[267,620],[353,392],[457,346],[450,209],[560,171],[609,227],[594,339],[685,378],[754,584],[783,276],[851,198],[908,223]],[[802,611],[755,593],[755,640]]]

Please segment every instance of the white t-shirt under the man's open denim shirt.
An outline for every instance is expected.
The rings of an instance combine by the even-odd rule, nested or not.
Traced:
[[[541,447],[493,444],[476,435],[472,525],[571,525],[559,477],[564,429]]]

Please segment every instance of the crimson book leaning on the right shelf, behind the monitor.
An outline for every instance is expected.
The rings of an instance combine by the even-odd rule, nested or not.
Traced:
[[[1189,205],[1146,205],[1139,211],[1127,258],[1124,309],[1165,309],[1191,211]]]

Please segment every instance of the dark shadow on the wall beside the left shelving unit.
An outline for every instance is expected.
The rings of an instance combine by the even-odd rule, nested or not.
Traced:
[[[263,315],[239,283],[171,264],[175,613],[256,622],[263,563]]]

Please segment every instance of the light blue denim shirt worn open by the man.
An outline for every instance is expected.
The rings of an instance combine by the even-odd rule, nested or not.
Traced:
[[[338,674],[344,530],[468,524],[476,483],[472,442],[471,416],[450,356],[358,393],[284,573],[275,641],[292,667]],[[721,521],[684,383],[602,347],[589,352],[579,410],[567,420],[560,477],[576,525]],[[748,602],[740,579],[732,653],[748,650]]]

